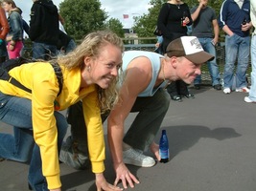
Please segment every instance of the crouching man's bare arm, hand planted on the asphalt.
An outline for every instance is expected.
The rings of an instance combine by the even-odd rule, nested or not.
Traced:
[[[139,181],[128,171],[123,161],[124,123],[137,96],[148,86],[150,80],[150,60],[146,57],[132,60],[128,65],[126,79],[120,91],[120,100],[110,112],[107,120],[108,144],[116,171],[114,184],[122,180],[125,188],[128,187],[127,181],[130,187],[134,187],[133,182],[139,183]]]

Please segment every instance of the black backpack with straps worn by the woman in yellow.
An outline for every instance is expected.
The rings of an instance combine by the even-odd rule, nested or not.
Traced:
[[[27,87],[22,85],[15,78],[13,78],[9,74],[9,71],[12,70],[14,67],[20,66],[22,64],[35,62],[35,61],[36,61],[35,59],[27,59],[27,58],[21,56],[21,57],[15,58],[15,59],[9,59],[9,60],[1,63],[0,64],[0,79],[7,80],[10,83],[12,83],[12,85],[14,85],[28,93],[32,93],[32,91],[30,89],[28,89]],[[55,74],[58,78],[58,87],[59,87],[58,96],[59,96],[62,91],[63,75],[62,75],[61,69],[57,62],[51,63],[51,66],[54,68]]]

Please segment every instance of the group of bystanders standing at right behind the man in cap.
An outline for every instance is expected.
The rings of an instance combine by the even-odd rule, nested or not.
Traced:
[[[172,9],[172,14],[169,14],[169,9]],[[198,37],[204,51],[215,55],[213,60],[207,62],[213,88],[218,91],[223,90],[224,94],[230,94],[232,91],[248,93],[245,74],[248,67],[250,29],[252,28],[250,9],[249,0],[225,0],[221,5],[218,18],[216,12],[208,6],[208,0],[199,0],[198,6],[191,10],[188,10],[186,3],[180,0],[170,0],[159,12],[157,26],[163,32],[163,42],[161,46],[158,43],[156,46],[159,47],[158,50],[162,49],[162,53],[165,53],[165,43],[173,40],[174,36],[178,36],[177,33],[188,35],[186,27],[192,26],[190,35]],[[184,21],[186,24],[183,24]],[[220,28],[225,33],[223,87],[215,48],[219,41]],[[237,65],[235,65],[236,61]],[[175,86],[182,87],[180,84],[177,85],[177,82],[174,83],[173,87]],[[194,87],[199,90],[200,86],[201,75],[199,74],[194,81]],[[175,90],[175,88],[169,89],[170,96],[174,100],[181,99],[182,94]],[[247,102],[248,98],[244,100]]]

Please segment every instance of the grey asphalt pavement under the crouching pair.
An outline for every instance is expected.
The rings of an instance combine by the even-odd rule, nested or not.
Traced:
[[[195,98],[171,101],[161,125],[167,131],[171,160],[151,168],[128,165],[140,183],[127,190],[255,191],[256,104],[244,102],[246,93],[224,95],[209,86],[191,88],[191,92]],[[135,114],[128,117],[126,129],[134,117]],[[12,128],[0,122],[0,132],[12,132]],[[107,146],[105,167],[106,180],[114,182]],[[27,164],[0,162],[0,190],[28,190],[28,169]],[[77,171],[63,163],[60,170],[62,190],[96,190],[90,170]]]

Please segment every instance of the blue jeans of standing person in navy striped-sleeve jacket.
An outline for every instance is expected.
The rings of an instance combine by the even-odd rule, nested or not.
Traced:
[[[249,61],[249,41],[249,36],[241,37],[235,33],[232,36],[225,36],[224,88],[231,88],[233,85],[233,75],[237,57],[237,70],[234,78],[236,88],[244,88],[247,86],[245,74]]]

